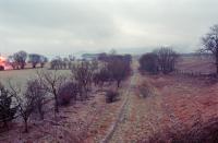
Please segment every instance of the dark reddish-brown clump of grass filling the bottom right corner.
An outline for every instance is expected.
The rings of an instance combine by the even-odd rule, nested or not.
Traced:
[[[196,122],[191,129],[181,132],[156,133],[146,141],[149,143],[217,143],[218,119],[213,118],[207,122]]]

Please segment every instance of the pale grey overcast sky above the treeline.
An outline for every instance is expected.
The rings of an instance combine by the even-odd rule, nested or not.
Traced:
[[[0,52],[193,51],[218,0],[0,0]]]

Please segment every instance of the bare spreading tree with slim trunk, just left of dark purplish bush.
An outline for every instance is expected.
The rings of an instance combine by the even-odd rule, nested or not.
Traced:
[[[37,71],[40,85],[50,93],[55,98],[55,111],[59,112],[58,92],[65,82],[65,76],[58,73],[58,71]]]

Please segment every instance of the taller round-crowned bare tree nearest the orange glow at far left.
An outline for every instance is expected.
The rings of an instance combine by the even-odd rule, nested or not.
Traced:
[[[13,55],[14,61],[20,65],[21,69],[24,69],[26,64],[26,58],[27,58],[27,53],[26,51],[23,51],[23,50]]]

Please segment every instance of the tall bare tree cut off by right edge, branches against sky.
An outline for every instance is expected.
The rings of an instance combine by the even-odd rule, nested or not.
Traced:
[[[218,25],[210,27],[210,32],[202,38],[203,47],[199,49],[201,52],[211,53],[215,58],[215,64],[218,74]]]

